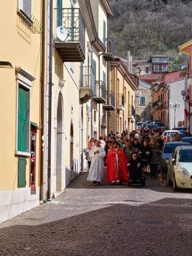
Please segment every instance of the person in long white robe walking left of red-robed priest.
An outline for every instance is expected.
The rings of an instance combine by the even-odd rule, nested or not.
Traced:
[[[96,140],[95,146],[89,152],[91,166],[87,177],[87,180],[93,181],[95,186],[100,185],[102,180],[105,155],[104,149],[100,146],[100,141]]]

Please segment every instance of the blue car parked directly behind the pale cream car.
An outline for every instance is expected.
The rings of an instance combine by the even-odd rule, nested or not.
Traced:
[[[160,170],[163,172],[168,171],[168,162],[169,158],[172,155],[172,152],[176,147],[178,146],[187,146],[190,145],[188,142],[183,142],[183,141],[168,141],[165,142],[163,145],[163,149],[160,152]]]

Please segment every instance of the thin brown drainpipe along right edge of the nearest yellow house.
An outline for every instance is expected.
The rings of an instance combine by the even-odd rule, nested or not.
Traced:
[[[42,34],[41,34],[41,88],[40,88],[40,201],[44,198],[44,154],[41,137],[44,134],[44,64],[45,64],[45,1],[42,1]]]

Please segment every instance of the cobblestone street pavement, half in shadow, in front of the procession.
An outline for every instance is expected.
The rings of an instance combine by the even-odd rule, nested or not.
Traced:
[[[0,224],[0,255],[192,255],[192,193],[86,181]]]

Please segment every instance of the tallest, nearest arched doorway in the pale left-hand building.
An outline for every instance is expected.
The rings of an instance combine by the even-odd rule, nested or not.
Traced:
[[[62,190],[62,96],[57,105],[57,146],[56,146],[56,190]]]

